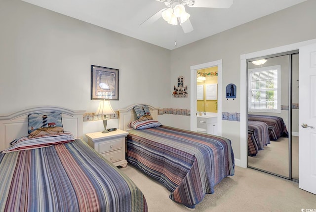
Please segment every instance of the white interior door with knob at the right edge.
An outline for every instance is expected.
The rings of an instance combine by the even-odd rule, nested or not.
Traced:
[[[316,43],[299,57],[299,187],[316,194]]]

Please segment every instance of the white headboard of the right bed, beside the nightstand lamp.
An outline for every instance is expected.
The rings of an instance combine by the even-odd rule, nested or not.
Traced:
[[[148,105],[148,104],[135,104],[135,105],[131,105],[128,106],[127,108],[124,109],[119,109],[119,128],[121,130],[126,130],[129,127],[127,127],[127,125],[134,120],[137,120],[137,116],[136,113],[134,111],[134,107],[136,105]],[[149,111],[153,117],[154,120],[158,119],[158,107],[153,107],[151,105],[148,105],[149,107]]]

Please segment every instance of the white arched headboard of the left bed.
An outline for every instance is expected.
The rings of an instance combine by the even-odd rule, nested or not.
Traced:
[[[16,138],[28,135],[28,115],[32,113],[53,112],[63,113],[62,123],[65,131],[71,131],[76,138],[83,136],[83,113],[62,107],[34,107],[18,111],[10,115],[0,116],[0,151],[10,147]]]

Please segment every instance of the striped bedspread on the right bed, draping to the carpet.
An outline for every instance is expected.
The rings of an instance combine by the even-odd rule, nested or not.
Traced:
[[[173,127],[131,129],[128,162],[161,182],[169,198],[195,208],[224,177],[234,175],[234,153],[227,138]]]

